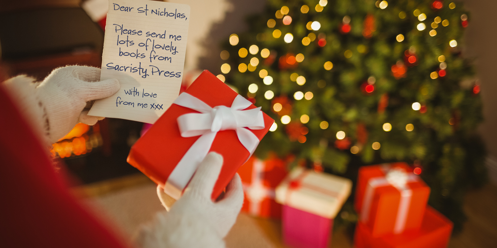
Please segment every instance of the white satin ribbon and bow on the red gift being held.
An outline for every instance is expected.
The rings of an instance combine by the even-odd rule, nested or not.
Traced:
[[[172,170],[164,186],[164,192],[174,199],[179,199],[198,165],[209,153],[218,131],[236,130],[238,139],[252,155],[259,139],[246,127],[264,128],[264,117],[260,107],[244,110],[252,103],[241,95],[237,95],[231,107],[220,105],[211,108],[186,92],[181,93],[173,103],[200,112],[184,114],[177,118],[181,137],[201,135]]]

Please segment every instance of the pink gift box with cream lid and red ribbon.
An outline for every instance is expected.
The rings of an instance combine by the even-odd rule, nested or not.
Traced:
[[[276,187],[283,204],[283,242],[294,248],[326,248],[333,219],[350,194],[352,182],[328,173],[295,168]]]

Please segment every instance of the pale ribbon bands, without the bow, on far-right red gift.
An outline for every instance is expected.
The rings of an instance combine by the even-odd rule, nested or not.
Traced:
[[[419,177],[411,174],[407,176],[406,183],[418,181]],[[373,201],[374,190],[377,187],[392,185],[397,188],[401,193],[401,199],[399,202],[399,207],[397,210],[397,217],[395,219],[394,233],[402,233],[406,227],[407,215],[409,212],[409,206],[411,205],[411,197],[413,195],[413,190],[407,185],[397,185],[391,184],[386,177],[376,177],[368,180],[368,185],[366,186],[366,191],[364,193],[364,199],[362,201],[361,208],[361,221],[367,222],[369,219],[369,213],[371,208],[371,202]]]

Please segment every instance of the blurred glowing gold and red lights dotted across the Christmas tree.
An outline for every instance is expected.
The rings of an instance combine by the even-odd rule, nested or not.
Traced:
[[[324,7],[328,4],[328,0],[320,0],[319,3],[314,7],[314,9],[317,11],[317,12],[321,12],[324,10]],[[376,7],[380,8],[380,9],[385,9],[388,7],[388,2],[386,0],[378,0],[376,1],[375,3]],[[434,0],[432,2],[432,8],[435,8],[435,9],[441,9],[443,7],[443,3],[439,0]],[[456,4],[454,2],[451,2],[448,7],[450,9],[454,9],[456,7]],[[302,5],[301,8],[300,8],[300,12],[306,14],[308,13],[310,10],[310,7],[308,5]],[[283,25],[290,25],[292,23],[292,17],[290,15],[288,15],[290,9],[288,6],[282,6],[281,9],[277,10],[276,13],[275,13],[275,18],[276,19],[282,19],[282,23]],[[399,12],[399,18],[401,19],[405,19],[407,18],[407,13],[404,12],[404,11],[400,11]],[[428,34],[433,37],[433,36],[436,36],[437,35],[437,28],[439,29],[440,26],[442,27],[447,27],[449,26],[449,20],[448,19],[443,19],[442,20],[442,17],[440,16],[436,16],[433,21],[430,23],[429,20],[427,20],[427,16],[425,13],[422,13],[419,9],[415,9],[413,11],[413,15],[415,17],[417,17],[417,20],[419,21],[419,23],[415,24],[415,28],[418,30],[418,31],[423,31],[426,29],[427,25],[429,25],[429,27],[431,27],[431,30],[428,32]],[[368,18],[371,18],[371,20],[368,20]],[[369,23],[372,23],[374,22],[374,17],[372,16],[367,16],[366,17],[366,22],[365,22],[365,25],[368,25],[368,22]],[[428,22],[429,24],[425,24],[425,22]],[[463,27],[466,27],[468,25],[468,16],[466,14],[463,14],[461,15],[461,24]],[[276,20],[275,19],[269,19],[267,20],[267,27],[268,28],[275,28],[276,27]],[[312,31],[318,31],[320,30],[321,28],[321,23],[318,22],[318,21],[309,21],[308,23],[306,23],[306,28],[308,30],[310,30],[311,32],[302,38],[301,42],[302,42],[302,45],[304,46],[308,46],[310,45],[312,42],[316,41],[317,40],[317,45],[320,46],[320,47],[324,47],[326,45],[326,35],[325,34],[319,34],[318,36],[316,36],[316,34]],[[350,32],[351,30],[351,26],[350,26],[350,16],[344,16],[343,19],[342,19],[342,23],[340,24],[340,32],[341,33],[348,33]],[[374,29],[374,25],[371,24],[371,27],[369,27],[368,30],[365,30],[363,32],[363,35],[365,37],[371,37],[372,35],[372,32],[375,31]],[[283,36],[283,41],[286,42],[286,43],[291,43],[294,41],[294,35],[292,33],[286,33],[283,35],[283,33],[281,32],[281,30],[279,29],[274,29],[272,31],[272,37],[275,38],[275,39],[279,39],[281,38],[281,36]],[[397,42],[401,43],[401,42],[404,42],[406,39],[406,36],[404,34],[398,34],[396,36],[396,40]],[[237,46],[240,42],[240,38],[237,34],[232,34],[230,35],[229,37],[229,42],[232,46]],[[449,41],[449,46],[451,48],[455,48],[457,46],[457,41],[452,39]],[[358,45],[357,47],[357,51],[359,53],[366,53],[367,52],[367,48],[364,46],[364,45]],[[415,51],[415,48],[414,47],[411,47],[409,50],[406,50],[406,53],[405,53],[405,56],[406,56],[406,61],[409,63],[409,64],[416,64],[416,61],[417,61],[417,57],[415,55],[416,51]],[[250,58],[249,60],[249,63],[248,64],[245,64],[245,63],[240,63],[238,65],[238,71],[244,73],[246,72],[247,70],[250,71],[250,72],[253,72],[257,69],[257,65],[259,64],[259,59],[256,57],[257,54],[259,54],[259,47],[257,45],[250,45],[249,48],[240,48],[239,51],[238,51],[238,56],[240,58],[247,58],[248,56],[253,56],[252,58]],[[221,54],[221,59],[226,61],[229,59],[230,57],[230,53],[228,51],[222,51]],[[263,49],[260,49],[260,57],[262,59],[267,59],[271,56],[271,52],[269,49],[267,48],[263,48]],[[351,58],[353,56],[353,52],[351,50],[346,50],[343,54],[343,56],[347,59]],[[296,56],[293,56],[293,55],[287,55],[286,58],[285,58],[285,62],[287,62],[288,64],[294,64],[295,62],[303,62],[305,59],[305,56],[304,54],[302,53],[299,53],[297,54]],[[436,79],[438,77],[443,77],[446,75],[446,68],[447,68],[447,63],[445,62],[445,56],[444,55],[440,55],[438,56],[437,58],[438,62],[440,62],[439,64],[439,69],[437,69],[436,71],[433,71],[430,73],[430,78],[431,79]],[[326,69],[326,70],[331,70],[333,68],[333,63],[331,61],[327,61],[323,64],[323,67]],[[231,66],[229,63],[223,63],[221,65],[221,72],[223,74],[228,74],[230,71],[232,70]],[[405,66],[405,64],[399,60],[396,64],[394,64],[391,68],[392,70],[392,74],[394,75],[394,77],[396,77],[397,79],[401,78],[401,77],[405,77],[406,76],[406,72],[407,72],[407,67]],[[225,82],[226,80],[226,77],[223,75],[223,74],[219,74],[217,75],[217,77]],[[265,84],[265,85],[271,85],[273,83],[273,77],[268,75],[268,71],[266,69],[261,69],[258,71],[258,75],[260,78],[262,78],[262,82]],[[290,74],[290,80],[292,82],[296,82],[298,85],[304,85],[306,83],[306,78],[304,75],[299,75],[298,73],[291,73]],[[364,90],[367,92],[367,93],[371,93],[374,91],[374,84],[376,82],[376,78],[374,76],[370,76],[368,79],[367,79],[367,83],[366,85],[364,86]],[[320,80],[318,81],[318,87],[320,88],[324,88],[326,86],[326,81],[324,80]],[[476,88],[478,87],[478,88]],[[248,97],[249,98],[253,98],[255,97],[255,93],[259,90],[259,86],[256,84],[256,83],[252,83],[250,85],[248,85]],[[421,93],[423,95],[426,95],[423,93],[423,90],[425,89],[421,89]],[[478,92],[480,91],[480,88],[479,88],[479,85],[475,85],[475,88],[473,89],[473,92],[475,94],[477,94]],[[264,98],[266,100],[271,100],[275,97],[275,94],[273,91],[271,90],[267,90],[264,92],[263,94]],[[311,100],[313,99],[314,97],[314,94],[311,92],[311,91],[308,91],[308,92],[302,92],[302,91],[296,91],[294,94],[293,94],[293,98],[297,101],[300,101],[302,99],[305,99],[305,100]],[[425,113],[426,112],[426,107],[424,105],[421,105],[419,102],[414,102],[412,104],[412,109],[414,111],[420,111],[420,113]],[[275,112],[280,112],[282,109],[283,109],[283,106],[281,103],[274,103],[273,106],[272,106],[273,110]],[[282,124],[289,124],[291,122],[291,117],[289,115],[283,115],[281,116],[281,119],[280,119],[281,123]],[[308,122],[310,121],[310,117],[306,114],[302,115],[300,117],[300,122],[302,124],[307,124]],[[452,119],[451,119],[452,121]],[[453,121],[451,122],[449,121],[449,124],[453,124]],[[329,127],[329,123],[327,121],[322,121],[320,122],[319,124],[320,128],[321,129],[327,129]],[[277,129],[278,125],[276,123],[274,123],[271,128],[269,129],[270,131],[275,131]],[[384,131],[388,132],[388,131],[391,131],[392,130],[392,124],[390,123],[385,123],[382,125],[382,128]],[[405,126],[405,129],[406,131],[413,131],[414,130],[414,125],[413,124],[407,124]],[[344,131],[340,130],[340,131],[337,131],[336,132],[336,138],[338,140],[342,140],[346,137],[346,134]],[[301,140],[299,139],[299,142],[301,142]],[[304,143],[305,142],[305,139],[303,139],[303,142],[301,143]],[[381,144],[379,142],[373,142],[372,143],[372,148],[374,150],[378,150],[380,149],[381,147]],[[358,153],[359,151],[361,150],[361,147],[358,147],[358,146],[352,146],[350,148],[350,152],[353,153],[353,154],[356,154]]]

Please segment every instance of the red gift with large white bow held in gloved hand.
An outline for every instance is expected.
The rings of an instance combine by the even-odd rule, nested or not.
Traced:
[[[198,103],[199,100],[203,103]],[[195,111],[190,107],[183,107],[194,103],[203,108],[203,110],[200,110],[200,107],[197,108],[199,111]],[[228,106],[232,108],[230,109]],[[235,113],[234,108],[237,106],[244,106],[244,108],[238,108]],[[257,118],[235,119],[243,115],[240,113],[248,112],[252,114],[256,113]],[[236,121],[226,119],[230,116]],[[250,122],[255,122],[255,119],[258,120],[257,129],[248,129],[243,126],[250,127],[250,125],[240,124],[243,122],[252,124]],[[206,134],[199,133],[197,129],[193,131],[188,129],[191,126],[205,126],[204,120],[210,121],[209,126],[202,130]],[[179,124],[181,121],[184,122]],[[217,126],[215,126],[216,121]],[[128,163],[165,188],[166,193],[170,196],[179,198],[184,186],[202,159],[201,157],[197,158],[194,162],[184,163],[184,161],[190,160],[191,157],[199,156],[199,152],[190,149],[192,145],[195,144],[196,148],[204,149],[205,155],[210,151],[220,153],[224,158],[224,164],[212,192],[212,198],[215,199],[228,185],[238,168],[247,161],[250,156],[248,149],[252,149],[253,152],[258,141],[262,139],[273,123],[274,121],[269,116],[256,109],[248,100],[238,95],[212,73],[204,70],[190,87],[181,93],[178,99],[175,100],[145,135],[131,147],[128,155]],[[182,130],[180,130],[181,128]],[[218,131],[213,134],[212,132],[214,131],[211,131],[211,129]],[[247,139],[241,141],[240,135],[245,135],[252,143],[247,145]],[[196,142],[197,140],[200,141],[200,139],[205,141],[205,137],[207,136],[213,139],[210,140],[212,145],[208,151],[207,145],[198,145],[199,143]],[[242,142],[245,143],[242,144]],[[247,146],[249,148],[246,148]],[[187,152],[188,154],[185,156]],[[182,166],[178,165],[180,162]],[[179,182],[179,179],[176,178],[177,175],[181,175],[183,185],[175,183]],[[171,183],[172,179],[175,181]]]

